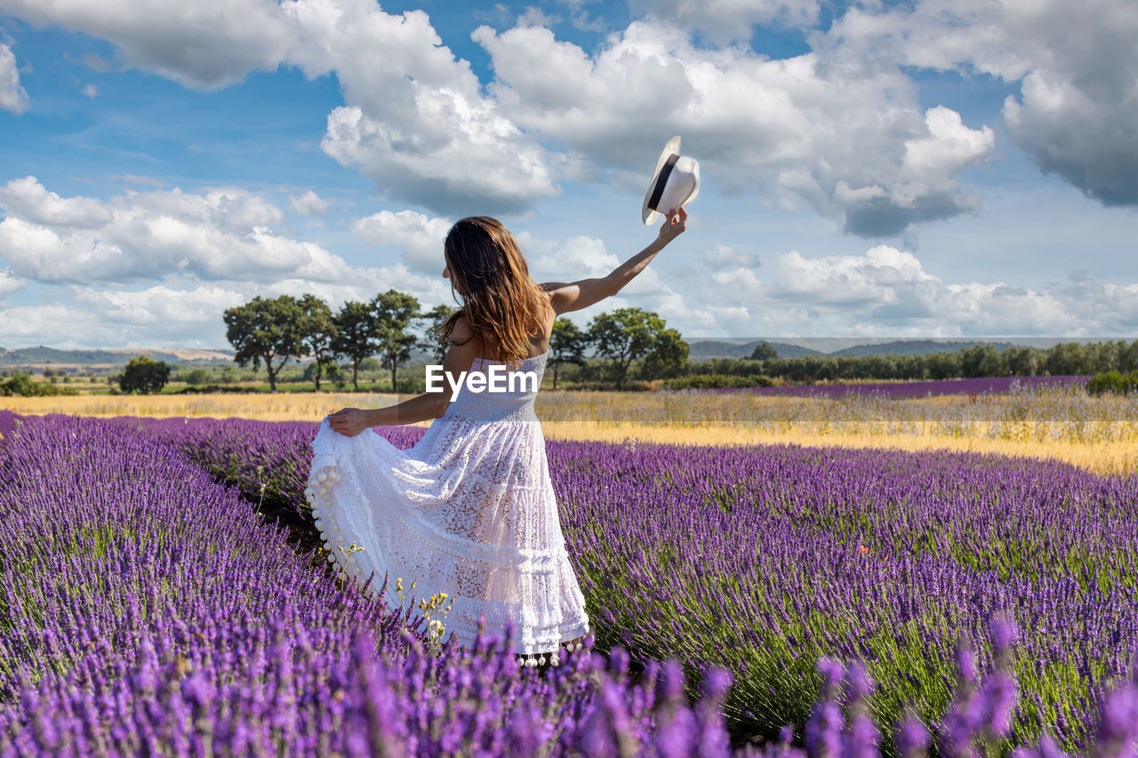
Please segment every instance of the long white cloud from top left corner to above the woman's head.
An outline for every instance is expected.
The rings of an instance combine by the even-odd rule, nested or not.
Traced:
[[[199,89],[250,71],[335,72],[346,105],[328,115],[324,151],[385,197],[438,213],[519,211],[560,190],[556,158],[481,94],[465,60],[426,13],[373,0],[0,0],[34,25],[58,24],[117,46],[125,63]]]

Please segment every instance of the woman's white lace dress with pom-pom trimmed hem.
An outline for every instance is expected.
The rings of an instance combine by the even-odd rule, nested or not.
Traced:
[[[534,371],[541,386],[547,359],[549,351],[526,359],[518,372]],[[470,372],[488,376],[489,365],[477,359]],[[589,633],[589,621],[534,413],[537,392],[522,382],[514,389],[463,386],[409,450],[371,429],[346,437],[324,419],[306,494],[343,578],[363,582],[374,571],[378,594],[386,572],[393,607],[399,578],[407,599],[445,592],[444,638],[453,631],[471,648],[480,615],[496,634],[513,619],[516,653],[555,659],[561,642]]]

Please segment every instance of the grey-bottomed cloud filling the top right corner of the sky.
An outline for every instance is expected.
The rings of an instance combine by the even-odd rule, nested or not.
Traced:
[[[1106,205],[1135,205],[1135,2],[922,0],[883,11],[851,8],[811,41],[846,59],[1020,82],[1020,97],[1007,98],[1004,118],[1036,165]]]

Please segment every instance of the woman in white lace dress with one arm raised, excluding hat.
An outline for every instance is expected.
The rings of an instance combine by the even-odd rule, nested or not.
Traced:
[[[343,409],[312,443],[306,494],[330,562],[341,578],[372,578],[399,604],[397,580],[417,596],[445,592],[446,632],[472,646],[478,618],[488,629],[514,623],[519,662],[556,665],[558,645],[582,646],[591,632],[569,563],[545,439],[534,398],[549,359],[554,320],[616,295],[685,229],[668,213],[657,239],[608,277],[536,283],[513,236],[485,216],[454,224],[443,275],[462,306],[439,328],[450,348],[445,374],[488,374],[490,362],[533,371],[527,390],[472,392],[450,382],[381,409]],[[505,369],[498,369],[503,371]],[[503,382],[505,384],[505,382]],[[526,387],[526,382],[518,382]],[[371,429],[438,419],[409,450]]]

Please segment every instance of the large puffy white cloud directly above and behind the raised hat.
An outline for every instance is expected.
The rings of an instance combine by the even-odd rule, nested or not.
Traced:
[[[847,231],[897,234],[975,207],[958,175],[995,143],[990,129],[965,126],[948,108],[918,109],[915,84],[896,66],[695,48],[648,22],[592,56],[543,27],[481,26],[473,38],[490,53],[490,91],[511,118],[566,143],[580,175],[608,166],[628,189],[682,134],[683,151],[727,190],[805,199]]]

